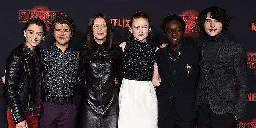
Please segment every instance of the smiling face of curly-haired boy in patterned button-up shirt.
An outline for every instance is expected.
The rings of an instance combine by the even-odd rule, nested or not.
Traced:
[[[73,35],[71,34],[70,26],[67,24],[56,23],[53,36],[56,40],[56,46],[60,48],[68,46],[68,42]]]

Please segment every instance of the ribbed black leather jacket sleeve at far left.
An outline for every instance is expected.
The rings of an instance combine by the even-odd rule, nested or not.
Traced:
[[[12,117],[15,124],[26,120],[18,96],[18,91],[23,87],[22,82],[19,83],[21,61],[22,60],[17,55],[11,54],[8,56],[6,63],[4,94],[6,101],[12,110]]]

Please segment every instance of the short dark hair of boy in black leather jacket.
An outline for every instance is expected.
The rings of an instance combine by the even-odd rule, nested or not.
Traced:
[[[42,28],[44,30],[44,35],[47,33],[46,25],[45,25],[44,21],[41,20],[40,18],[32,18],[32,19],[30,19],[28,22],[26,22],[24,30],[27,31],[28,26],[30,26],[31,24],[36,24],[38,26],[42,26]]]

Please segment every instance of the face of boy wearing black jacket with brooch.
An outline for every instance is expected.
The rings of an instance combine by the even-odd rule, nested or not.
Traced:
[[[178,20],[172,20],[166,24],[164,36],[168,40],[170,46],[175,51],[182,44],[182,38],[185,34],[182,24]]]

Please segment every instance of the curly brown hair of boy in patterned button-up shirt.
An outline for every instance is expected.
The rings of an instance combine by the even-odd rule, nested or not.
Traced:
[[[73,35],[75,32],[75,23],[74,21],[65,14],[60,14],[54,17],[54,19],[51,22],[51,29],[52,29],[52,34],[54,34],[54,29],[55,29],[55,24],[59,23],[59,24],[67,24],[68,26],[70,26],[71,29],[71,34]]]

